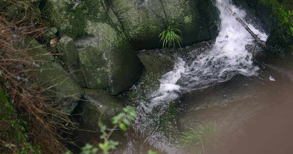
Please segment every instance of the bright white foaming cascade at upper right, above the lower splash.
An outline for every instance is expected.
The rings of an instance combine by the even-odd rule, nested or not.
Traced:
[[[174,70],[165,74],[160,80],[160,89],[153,94],[156,96],[153,101],[167,98],[167,95],[172,96],[178,91],[185,93],[207,88],[228,81],[236,74],[257,74],[259,68],[253,65],[252,54],[249,53],[249,49],[255,44],[254,38],[235,17],[236,15],[246,21],[245,11],[237,8],[230,0],[217,0],[216,6],[220,11],[221,25],[215,44],[200,55],[195,54],[195,51],[189,53],[188,59],[192,61],[181,62],[185,65],[178,67],[177,64]],[[250,23],[246,22],[246,25],[260,40],[267,40],[268,36],[265,33]],[[181,74],[178,75],[177,72]],[[174,75],[181,78],[173,78]],[[178,80],[168,80],[170,78]]]

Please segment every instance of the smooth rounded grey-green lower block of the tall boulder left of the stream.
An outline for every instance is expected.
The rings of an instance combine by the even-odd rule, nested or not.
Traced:
[[[143,65],[130,46],[116,44],[124,39],[107,24],[95,37],[80,37],[78,48],[81,70],[87,88],[108,89],[113,95],[129,89],[138,81]],[[103,34],[108,35],[103,37]]]

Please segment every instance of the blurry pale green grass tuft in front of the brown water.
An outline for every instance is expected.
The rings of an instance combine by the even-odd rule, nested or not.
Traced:
[[[183,132],[180,141],[182,147],[192,148],[196,153],[204,153],[208,145],[211,145],[216,135],[216,123],[207,122],[196,124],[194,128],[189,128],[187,132]]]

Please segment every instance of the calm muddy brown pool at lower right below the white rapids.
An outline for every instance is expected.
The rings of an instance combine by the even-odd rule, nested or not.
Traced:
[[[270,62],[272,61],[267,63]],[[210,88],[221,91],[226,86],[231,88],[231,91],[235,90],[235,92],[229,92],[230,94],[246,93],[245,95],[238,94],[239,97],[230,95],[232,98],[228,100],[219,99],[216,96],[219,101],[224,101],[226,104],[208,104],[210,100],[215,101],[214,98],[207,98],[210,96],[208,93],[217,95],[209,90],[194,93],[202,94],[201,96],[186,97],[186,102],[192,102],[194,101],[192,99],[196,98],[196,101],[201,100],[206,103],[207,107],[204,107],[204,103],[197,106],[189,104],[189,109],[195,109],[179,115],[185,119],[179,122],[181,132],[188,130],[187,128],[192,127],[192,124],[212,121],[219,124],[221,137],[215,140],[216,147],[211,147],[206,153],[293,153],[293,84],[290,75],[292,71],[283,69],[291,66],[282,66],[283,60],[274,60],[273,63],[274,65],[270,67],[266,65],[262,69],[258,76],[260,80],[252,77],[254,78],[252,81],[257,81],[259,84],[249,82],[248,85],[252,84],[250,88],[243,88],[239,81],[232,82],[237,85],[237,89],[233,88],[235,86],[227,86],[233,79],[222,84],[219,89]],[[275,81],[271,81],[270,77],[273,77]],[[225,97],[224,94],[222,96]],[[195,153],[195,151],[191,150],[187,153]]]

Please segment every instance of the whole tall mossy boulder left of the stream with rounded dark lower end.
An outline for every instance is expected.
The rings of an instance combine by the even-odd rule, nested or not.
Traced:
[[[138,81],[143,65],[105,1],[48,0],[46,7],[59,33],[75,40],[85,87],[116,95]]]

